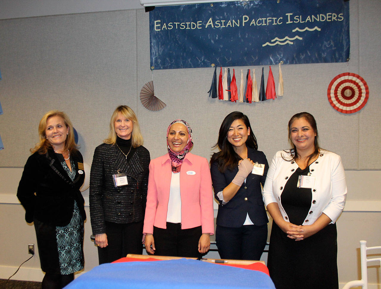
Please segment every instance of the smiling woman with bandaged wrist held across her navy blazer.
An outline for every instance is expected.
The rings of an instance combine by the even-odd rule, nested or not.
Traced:
[[[216,245],[223,259],[259,260],[267,241],[269,222],[262,200],[266,156],[247,116],[234,111],[219,129],[220,151],[210,160],[215,197],[219,202]]]

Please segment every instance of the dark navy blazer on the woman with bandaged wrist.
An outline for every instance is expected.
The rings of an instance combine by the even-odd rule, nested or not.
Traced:
[[[223,205],[217,197],[217,193],[222,191],[231,183],[238,172],[238,166],[234,170],[227,169],[225,173],[218,170],[217,162],[211,164],[210,172],[212,177],[215,198],[219,202],[216,224],[225,227],[239,228],[243,225],[246,215],[249,214],[251,222],[257,226],[264,225],[269,222],[266,209],[262,199],[261,184],[264,185],[266,180],[269,164],[266,156],[261,151],[247,148],[247,157],[253,162],[264,164],[263,176],[250,173],[246,178],[238,192],[232,199]]]

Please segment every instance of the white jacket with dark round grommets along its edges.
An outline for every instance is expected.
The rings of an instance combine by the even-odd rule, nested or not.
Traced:
[[[281,204],[283,188],[288,178],[298,168],[291,159],[290,151],[278,151],[267,172],[266,182],[263,188],[263,201],[265,206],[276,202],[279,206],[283,219],[287,222],[288,216]],[[339,155],[330,151],[321,150],[319,157],[310,165],[309,172],[315,177],[315,185],[312,191],[311,208],[302,225],[311,225],[322,213],[326,214],[335,223],[344,209],[347,185],[343,163]]]

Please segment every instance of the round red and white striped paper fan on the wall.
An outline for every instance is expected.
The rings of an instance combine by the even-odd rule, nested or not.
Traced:
[[[327,95],[331,106],[338,112],[354,113],[367,103],[369,88],[360,75],[345,72],[332,79]]]

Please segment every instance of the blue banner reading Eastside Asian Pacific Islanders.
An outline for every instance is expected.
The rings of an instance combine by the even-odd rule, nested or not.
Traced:
[[[344,0],[162,6],[149,12],[149,25],[151,69],[349,60]]]

